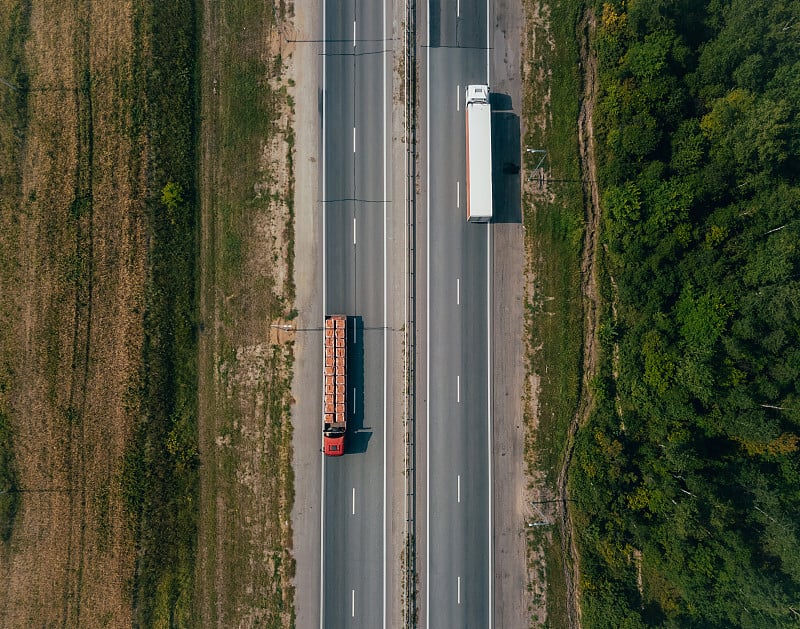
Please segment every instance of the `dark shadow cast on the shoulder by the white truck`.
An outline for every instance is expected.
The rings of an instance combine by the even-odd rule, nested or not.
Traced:
[[[493,223],[522,222],[520,123],[508,94],[492,92]]]

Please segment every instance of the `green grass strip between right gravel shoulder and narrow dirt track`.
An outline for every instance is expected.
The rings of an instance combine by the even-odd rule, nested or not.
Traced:
[[[526,303],[528,373],[538,377],[538,417],[528,417],[527,461],[542,500],[557,496],[557,477],[565,455],[569,425],[581,387],[583,311],[580,256],[584,198],[578,156],[578,66],[576,29],[583,3],[526,2],[528,41],[535,38],[531,75],[524,77],[524,147],[544,149],[544,184],[539,173],[524,187],[525,246],[532,294]],[[532,16],[536,16],[535,19]],[[540,160],[526,154],[527,172]],[[534,379],[535,381],[535,379]],[[535,385],[534,385],[535,386]],[[552,502],[537,505],[555,524]],[[534,566],[546,580],[547,625],[568,625],[567,584],[560,530],[553,525],[529,533]],[[534,621],[542,619],[534,619]]]

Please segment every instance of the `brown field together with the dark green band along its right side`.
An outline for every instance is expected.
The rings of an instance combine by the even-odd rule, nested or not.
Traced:
[[[192,0],[0,0],[0,626],[187,626]]]

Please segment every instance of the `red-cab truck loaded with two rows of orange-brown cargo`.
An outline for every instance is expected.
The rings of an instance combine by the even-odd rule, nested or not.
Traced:
[[[322,451],[344,454],[347,431],[347,316],[325,317],[322,365]]]

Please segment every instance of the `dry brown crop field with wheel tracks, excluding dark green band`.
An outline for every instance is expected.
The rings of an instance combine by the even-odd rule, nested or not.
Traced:
[[[13,0],[0,1],[0,13]],[[11,417],[21,503],[0,552],[0,625],[130,626],[133,539],[119,486],[141,367],[146,235],[127,130],[131,2],[34,2],[21,187],[4,191],[16,316]],[[88,80],[87,80],[88,79]]]

